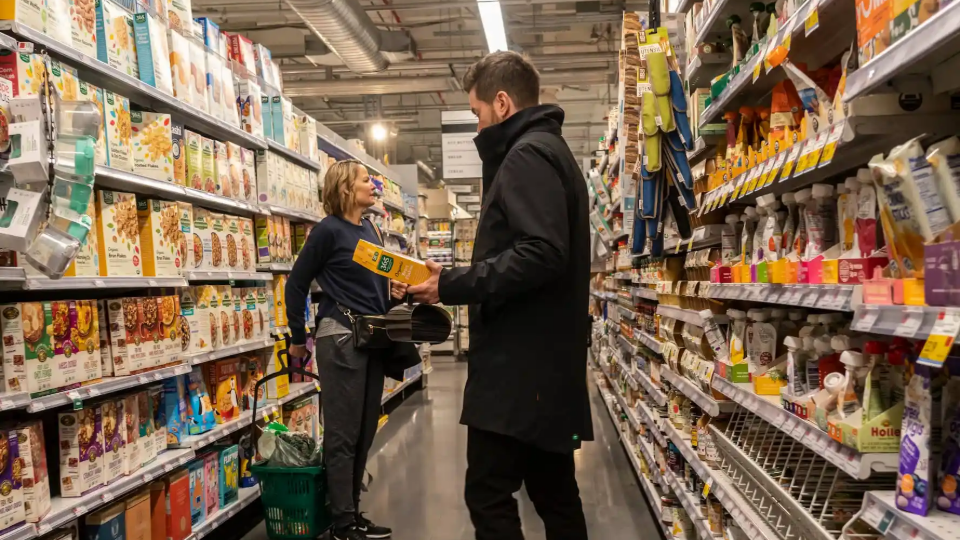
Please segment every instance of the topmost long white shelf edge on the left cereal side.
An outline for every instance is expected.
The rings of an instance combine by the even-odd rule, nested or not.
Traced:
[[[42,45],[51,56],[65,60],[71,67],[76,68],[81,80],[127,97],[132,103],[136,103],[140,107],[170,113],[175,120],[183,122],[188,128],[200,131],[217,140],[229,141],[251,149],[267,147],[264,139],[254,137],[240,129],[239,126],[232,126],[219,118],[202,112],[200,109],[173,97],[173,95],[164,93],[136,77],[131,77],[96,58],[87,56],[43,32],[12,20],[0,21],[0,30],[11,32],[24,41]]]

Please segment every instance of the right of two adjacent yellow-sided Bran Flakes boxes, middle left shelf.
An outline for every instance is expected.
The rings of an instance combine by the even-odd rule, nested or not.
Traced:
[[[186,240],[180,228],[180,207],[173,201],[140,199],[137,201],[140,224],[140,251],[143,275],[180,276],[183,274]]]

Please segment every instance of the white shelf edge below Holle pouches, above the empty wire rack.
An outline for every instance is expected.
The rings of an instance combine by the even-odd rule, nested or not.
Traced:
[[[713,388],[740,406],[756,414],[767,423],[790,435],[804,446],[823,457],[848,475],[866,480],[872,472],[896,472],[899,454],[862,454],[844,446],[821,430],[816,424],[785,411],[779,396],[758,396],[749,384],[738,385],[714,376]]]

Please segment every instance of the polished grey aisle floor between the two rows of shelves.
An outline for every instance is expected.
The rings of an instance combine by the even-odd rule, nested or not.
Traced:
[[[361,510],[392,527],[395,540],[474,538],[463,503],[467,431],[458,423],[466,376],[463,363],[434,363],[428,387],[399,406],[377,435],[368,462],[374,482]],[[590,537],[655,540],[659,527],[596,386],[588,386],[596,440],[577,453],[577,479]],[[527,539],[544,538],[533,504],[523,490],[518,497]],[[244,540],[265,538],[261,524]]]

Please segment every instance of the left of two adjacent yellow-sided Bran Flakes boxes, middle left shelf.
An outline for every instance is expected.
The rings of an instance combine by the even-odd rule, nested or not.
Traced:
[[[140,227],[132,193],[97,191],[97,243],[101,276],[140,276]]]

